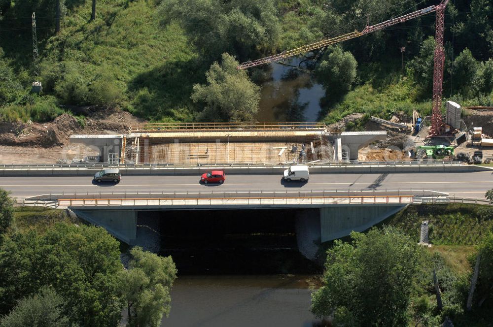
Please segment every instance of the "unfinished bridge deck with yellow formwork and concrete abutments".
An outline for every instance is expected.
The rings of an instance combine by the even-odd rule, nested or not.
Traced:
[[[386,131],[330,133],[319,123],[158,123],[123,135],[72,135],[119,164],[315,163],[356,160],[358,150]]]

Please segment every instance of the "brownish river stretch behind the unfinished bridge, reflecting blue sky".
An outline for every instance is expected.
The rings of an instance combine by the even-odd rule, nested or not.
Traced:
[[[325,91],[313,74],[297,69],[300,58],[286,65],[269,64],[267,81],[262,84],[257,113],[259,122],[315,122]],[[303,64],[302,64],[303,67]]]

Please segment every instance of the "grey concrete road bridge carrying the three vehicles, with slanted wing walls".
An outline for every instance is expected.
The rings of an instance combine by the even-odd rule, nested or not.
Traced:
[[[492,188],[491,170],[469,171],[474,167],[451,166],[460,170],[445,172],[443,166],[438,168],[441,171],[311,173],[309,182],[304,184],[283,182],[280,173],[272,173],[281,168],[268,168],[271,173],[261,173],[262,169],[255,173],[248,168],[247,172],[227,174],[222,185],[202,185],[200,174],[195,173],[135,176],[130,170],[119,184],[100,185],[92,181],[90,171],[84,176],[3,176],[0,186],[21,201],[42,200],[39,203],[43,205],[67,207],[130,244],[136,242],[139,212],[249,208],[312,209],[310,212],[316,212],[313,217],[300,221],[315,221],[319,226],[318,240],[323,242],[352,230],[368,229],[409,204],[428,201],[429,196],[435,202],[440,193],[484,197]]]

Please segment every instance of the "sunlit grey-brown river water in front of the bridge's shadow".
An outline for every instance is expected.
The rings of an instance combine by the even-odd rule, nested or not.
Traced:
[[[173,327],[313,327],[308,276],[181,276],[171,292]]]

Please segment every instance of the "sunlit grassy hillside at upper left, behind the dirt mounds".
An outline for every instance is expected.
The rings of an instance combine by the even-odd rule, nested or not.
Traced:
[[[61,32],[38,34],[44,96],[29,95],[29,33],[8,33],[2,42],[26,94],[25,103],[0,109],[4,120],[53,118],[57,103],[119,106],[150,120],[191,120],[190,93],[203,82],[193,46],[176,24],[163,27],[153,1],[100,1],[70,8]],[[42,25],[43,21],[40,21]],[[21,39],[21,40],[19,40]],[[40,105],[39,103],[43,103]],[[60,110],[60,109],[58,109]],[[40,113],[41,111],[41,113]]]

